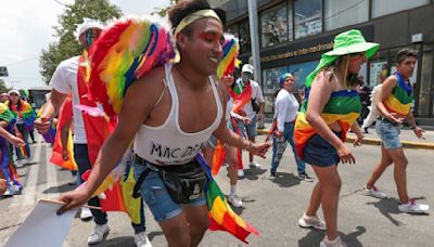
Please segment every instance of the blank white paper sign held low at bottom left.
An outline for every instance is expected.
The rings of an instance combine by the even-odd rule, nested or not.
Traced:
[[[39,200],[30,214],[12,234],[4,247],[59,247],[65,242],[78,209],[58,216],[62,204]]]

